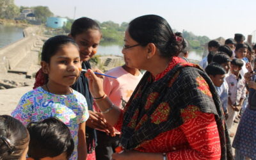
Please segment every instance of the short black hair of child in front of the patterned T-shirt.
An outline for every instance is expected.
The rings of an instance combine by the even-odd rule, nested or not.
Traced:
[[[33,159],[56,157],[64,152],[67,159],[74,150],[74,141],[70,131],[63,122],[51,117],[41,122],[28,124],[30,134],[28,156]]]

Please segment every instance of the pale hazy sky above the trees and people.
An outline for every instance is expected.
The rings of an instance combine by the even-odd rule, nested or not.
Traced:
[[[15,0],[18,6],[48,6],[54,15],[90,17],[118,24],[140,15],[156,14],[168,20],[177,31],[192,31],[209,38],[247,37],[256,31],[256,0]],[[253,38],[256,41],[256,37]]]

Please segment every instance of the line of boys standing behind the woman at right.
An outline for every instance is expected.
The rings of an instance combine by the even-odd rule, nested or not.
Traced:
[[[239,118],[247,106],[249,87],[244,76],[256,71],[254,56],[256,45],[252,47],[250,44],[244,43],[244,39],[243,35],[236,34],[234,40],[229,38],[222,46],[219,42],[212,40],[209,42],[208,56],[200,62],[220,95],[230,137],[236,134],[230,131],[233,123],[239,122]],[[254,149],[252,148],[252,150]],[[239,159],[240,156],[236,152],[236,159]]]

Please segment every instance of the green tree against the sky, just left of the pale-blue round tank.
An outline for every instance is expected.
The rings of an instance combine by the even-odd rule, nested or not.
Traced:
[[[33,7],[35,17],[38,20],[41,20],[42,23],[46,22],[47,17],[53,16],[53,13],[47,6],[35,6]]]

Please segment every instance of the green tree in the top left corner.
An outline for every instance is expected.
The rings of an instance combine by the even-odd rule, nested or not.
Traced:
[[[14,0],[0,0],[0,18],[14,19],[18,17],[19,7],[14,4]]]

